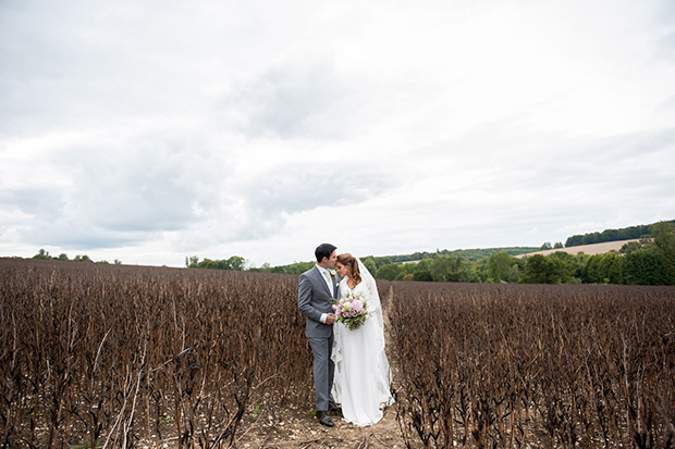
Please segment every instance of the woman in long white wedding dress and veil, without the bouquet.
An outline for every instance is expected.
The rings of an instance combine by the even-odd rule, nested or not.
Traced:
[[[368,319],[357,329],[343,323],[333,325],[332,360],[335,377],[332,396],[342,406],[344,420],[366,426],[382,419],[382,408],[394,402],[390,392],[391,371],[384,353],[382,304],[372,275],[352,254],[338,255],[340,296],[361,294],[367,300]]]

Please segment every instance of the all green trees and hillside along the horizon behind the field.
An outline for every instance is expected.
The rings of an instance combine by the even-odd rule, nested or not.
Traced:
[[[675,285],[675,221],[573,236],[567,239],[565,246],[590,245],[593,239],[606,239],[602,241],[631,239],[637,238],[635,237],[637,234],[640,234],[639,240],[624,245],[619,252],[596,255],[585,253],[573,255],[559,251],[549,255],[516,258],[539,248],[510,247],[437,250],[391,257],[368,255],[360,260],[376,278],[385,280]],[[581,240],[577,237],[581,237]],[[574,245],[570,245],[570,241]],[[575,244],[576,241],[581,242]],[[542,248],[550,249],[552,246],[547,242]],[[553,249],[555,248],[562,248],[562,244],[556,242]],[[69,261],[66,254],[51,257],[44,249],[40,249],[33,259]],[[87,255],[77,255],[73,261],[93,262]],[[114,263],[122,262],[115,259]],[[296,262],[289,265],[270,266],[266,263],[260,267],[247,267],[246,260],[240,255],[201,261],[196,255],[185,258],[185,266],[188,269],[260,273],[300,274],[314,265],[314,262]]]

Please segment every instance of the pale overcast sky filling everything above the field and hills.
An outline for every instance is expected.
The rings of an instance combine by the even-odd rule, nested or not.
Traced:
[[[672,0],[0,1],[0,255],[538,247],[674,167]]]

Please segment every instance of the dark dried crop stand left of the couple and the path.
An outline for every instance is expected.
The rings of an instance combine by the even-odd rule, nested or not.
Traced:
[[[224,447],[250,410],[311,402],[297,276],[8,259],[0,273],[2,447]]]

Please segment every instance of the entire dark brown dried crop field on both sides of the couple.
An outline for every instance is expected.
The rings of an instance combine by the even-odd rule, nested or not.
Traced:
[[[0,275],[0,446],[323,447],[291,441],[320,427],[297,276],[9,259]],[[410,447],[674,445],[674,288],[378,286]],[[283,445],[247,441],[260,415]]]

